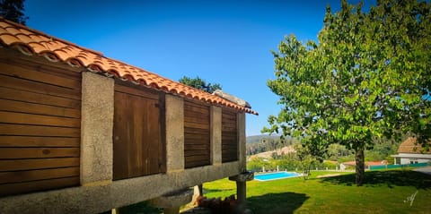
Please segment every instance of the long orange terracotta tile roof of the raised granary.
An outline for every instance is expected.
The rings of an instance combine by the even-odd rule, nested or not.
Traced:
[[[93,73],[117,76],[121,80],[132,81],[155,90],[163,90],[181,97],[194,98],[213,105],[231,107],[238,111],[258,115],[251,108],[239,106],[203,90],[194,89],[155,73],[105,57],[99,52],[48,36],[38,30],[31,30],[13,21],[4,20],[2,17],[0,17],[0,44],[4,47],[16,48],[25,55],[44,56],[52,62],[84,67]]]

